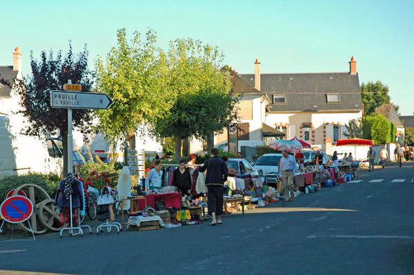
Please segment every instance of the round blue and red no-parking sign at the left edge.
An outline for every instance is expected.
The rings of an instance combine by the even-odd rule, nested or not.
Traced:
[[[10,196],[0,205],[0,215],[9,223],[23,223],[33,214],[33,203],[26,196]]]

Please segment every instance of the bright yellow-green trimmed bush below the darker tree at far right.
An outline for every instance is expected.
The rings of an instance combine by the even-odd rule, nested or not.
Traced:
[[[391,122],[382,114],[366,116],[362,121],[364,139],[372,139],[376,144],[391,141]]]

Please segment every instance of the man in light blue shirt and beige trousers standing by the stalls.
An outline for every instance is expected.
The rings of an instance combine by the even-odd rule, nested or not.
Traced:
[[[283,157],[279,161],[279,176],[282,178],[285,201],[293,201],[295,198],[293,177],[297,171],[296,161],[293,156],[288,154],[287,150],[283,150],[282,154]]]

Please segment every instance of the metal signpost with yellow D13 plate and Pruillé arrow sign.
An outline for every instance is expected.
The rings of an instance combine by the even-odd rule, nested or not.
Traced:
[[[52,91],[50,92],[50,105],[52,108],[68,109],[68,171],[73,172],[72,163],[72,109],[95,109],[105,110],[112,104],[112,100],[107,94],[97,94],[92,92],[79,92],[82,90],[81,85],[72,84],[70,79],[68,83],[63,85],[64,91]],[[83,231],[79,225],[73,227],[72,223],[72,196],[70,196],[70,227],[63,228],[61,230],[61,236],[63,230],[70,230],[70,234],[74,235],[72,230],[79,230],[79,234],[83,236]],[[90,227],[89,227],[90,229]]]

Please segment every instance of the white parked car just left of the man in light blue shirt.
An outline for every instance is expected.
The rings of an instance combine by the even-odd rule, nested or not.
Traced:
[[[279,161],[282,154],[264,154],[257,159],[253,169],[262,170],[268,185],[275,185],[279,173]]]

